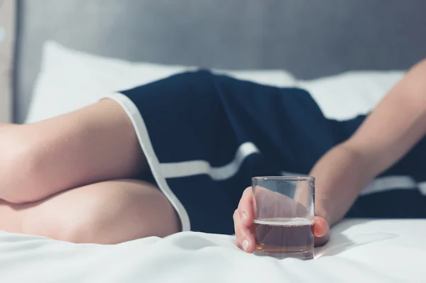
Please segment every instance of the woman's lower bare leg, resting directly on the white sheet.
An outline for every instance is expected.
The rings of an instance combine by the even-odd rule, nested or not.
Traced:
[[[180,230],[173,206],[151,184],[99,182],[31,204],[0,202],[0,231],[74,243],[114,244]]]

